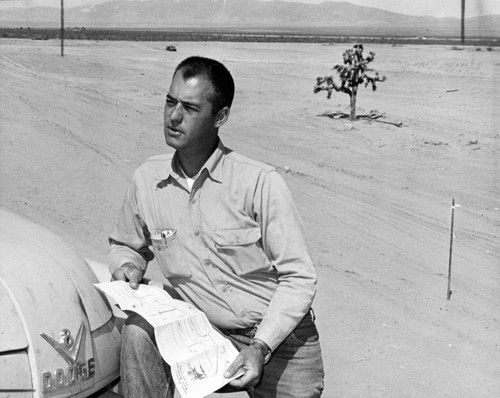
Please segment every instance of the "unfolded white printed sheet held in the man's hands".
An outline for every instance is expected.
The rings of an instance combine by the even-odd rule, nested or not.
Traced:
[[[95,286],[122,311],[136,312],[153,326],[160,354],[170,365],[182,398],[205,397],[231,380],[223,375],[238,350],[203,312],[154,286],[141,284],[134,290],[124,281]]]

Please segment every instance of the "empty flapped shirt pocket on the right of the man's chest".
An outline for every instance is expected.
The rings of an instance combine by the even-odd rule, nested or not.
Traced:
[[[214,231],[217,254],[238,275],[270,270],[259,227]]]

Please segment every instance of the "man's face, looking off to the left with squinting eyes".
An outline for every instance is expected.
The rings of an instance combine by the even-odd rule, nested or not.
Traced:
[[[184,80],[182,71],[177,71],[165,102],[163,123],[167,145],[186,154],[213,149],[219,124],[212,112],[212,93],[212,85],[203,77]]]

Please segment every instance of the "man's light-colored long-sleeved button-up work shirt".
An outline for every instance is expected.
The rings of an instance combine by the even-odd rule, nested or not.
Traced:
[[[177,156],[136,170],[110,234],[110,271],[156,257],[182,297],[222,329],[258,325],[275,349],[310,309],[316,273],[290,191],[271,166],[222,142],[191,189]]]

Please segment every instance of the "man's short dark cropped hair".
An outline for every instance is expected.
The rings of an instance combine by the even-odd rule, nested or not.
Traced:
[[[214,95],[211,101],[214,113],[225,106],[231,107],[234,98],[234,80],[231,73],[219,61],[198,56],[189,57],[177,65],[174,74],[178,71],[185,80],[201,76],[212,84]]]

